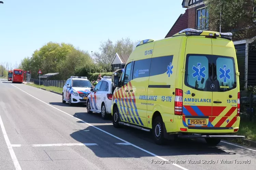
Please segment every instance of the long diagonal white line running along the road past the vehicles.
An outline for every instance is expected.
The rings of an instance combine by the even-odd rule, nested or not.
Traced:
[[[11,85],[14,86],[13,84],[11,84]],[[14,87],[16,87],[16,86],[14,86]],[[18,87],[16,87],[16,88],[18,88]],[[18,89],[20,89],[20,88],[18,88]],[[79,121],[81,121],[81,122],[83,122],[83,123],[85,123],[85,124],[87,124],[87,125],[89,125],[89,126],[95,128],[95,129],[98,129],[99,131],[101,131],[101,132],[103,132],[103,133],[106,133],[106,134],[108,134],[108,135],[110,135],[110,136],[112,136],[112,137],[114,137],[114,138],[116,138],[116,139],[119,139],[119,140],[121,140],[121,141],[123,141],[123,142],[125,142],[125,143],[129,143],[131,146],[133,146],[133,147],[135,147],[135,148],[137,148],[137,149],[139,149],[139,150],[141,150],[141,151],[144,151],[144,152],[146,152],[146,153],[148,153],[148,154],[150,154],[150,155],[152,155],[152,156],[155,156],[155,157],[157,157],[157,158],[159,158],[159,159],[161,159],[161,160],[168,161],[167,159],[165,159],[165,158],[163,158],[163,157],[161,157],[161,156],[158,156],[158,155],[156,155],[156,154],[154,154],[154,153],[152,153],[152,152],[150,152],[150,151],[147,151],[147,150],[145,150],[145,149],[143,149],[143,148],[140,148],[140,147],[138,147],[138,146],[136,146],[136,145],[134,145],[134,144],[132,144],[132,143],[130,143],[130,142],[124,140],[124,139],[121,139],[121,138],[119,138],[119,137],[117,137],[117,136],[115,136],[115,135],[112,135],[111,133],[108,133],[108,132],[106,132],[106,131],[104,131],[104,130],[102,130],[102,129],[100,129],[100,128],[97,128],[96,126],[94,126],[94,125],[92,125],[92,124],[90,124],[90,123],[87,123],[87,122],[85,122],[85,121],[83,121],[83,120],[81,120],[81,119],[79,119],[79,118],[76,118],[76,117],[74,117],[74,116],[72,116],[72,115],[70,115],[70,114],[68,114],[68,113],[66,113],[66,112],[64,112],[64,111],[62,111],[62,110],[60,110],[60,109],[58,109],[58,108],[56,108],[56,107],[54,107],[54,106],[52,106],[52,105],[50,105],[50,104],[44,102],[44,101],[42,101],[42,100],[40,100],[40,99],[34,97],[34,96],[32,96],[32,95],[30,95],[29,93],[27,93],[26,91],[24,91],[24,90],[22,90],[22,89],[20,89],[20,90],[23,91],[23,92],[25,92],[25,93],[28,94],[29,96],[31,96],[31,97],[33,97],[33,98],[35,98],[35,99],[37,99],[37,100],[39,100],[39,101],[41,101],[41,102],[47,104],[48,106],[51,106],[51,107],[55,108],[56,110],[58,110],[58,111],[60,111],[60,112],[62,112],[62,113],[65,113],[65,114],[68,115],[68,116],[71,116],[71,117],[73,117],[73,118],[75,118],[75,119],[77,119],[77,120],[79,120]],[[174,163],[172,163],[172,165],[174,165],[174,166],[176,166],[176,167],[178,167],[178,168],[181,168],[181,169],[183,169],[183,170],[188,170],[188,169],[186,169],[186,168],[184,168],[184,167],[182,167],[182,166],[180,166],[180,165],[174,164]]]

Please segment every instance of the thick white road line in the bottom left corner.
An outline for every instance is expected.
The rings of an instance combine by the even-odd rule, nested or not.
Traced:
[[[2,132],[3,132],[3,137],[4,137],[4,139],[5,139],[5,142],[6,142],[7,147],[8,147],[8,149],[9,149],[9,152],[10,152],[10,155],[11,155],[11,157],[12,157],[12,161],[13,161],[13,164],[14,164],[14,166],[15,166],[15,169],[16,169],[16,170],[22,170],[21,167],[20,167],[20,165],[19,165],[19,162],[18,162],[18,160],[17,160],[17,157],[16,157],[16,155],[15,155],[13,149],[12,149],[12,145],[11,145],[11,143],[10,143],[10,140],[9,140],[7,134],[6,134],[6,131],[5,131],[5,128],[4,128],[4,125],[3,125],[3,121],[2,121],[1,116],[0,116],[0,125],[1,125]]]

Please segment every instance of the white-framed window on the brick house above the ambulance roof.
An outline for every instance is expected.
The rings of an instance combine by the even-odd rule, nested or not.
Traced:
[[[200,8],[197,10],[197,30],[208,30],[209,27],[209,12],[208,8]]]

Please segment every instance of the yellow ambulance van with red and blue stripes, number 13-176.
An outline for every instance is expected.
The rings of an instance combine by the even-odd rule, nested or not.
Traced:
[[[141,41],[114,76],[113,125],[166,139],[205,138],[217,145],[238,132],[239,72],[232,33],[185,29]]]

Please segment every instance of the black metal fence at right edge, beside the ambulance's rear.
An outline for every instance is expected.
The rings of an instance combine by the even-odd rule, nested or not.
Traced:
[[[247,121],[256,121],[256,94],[240,92],[240,116]]]

